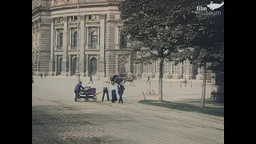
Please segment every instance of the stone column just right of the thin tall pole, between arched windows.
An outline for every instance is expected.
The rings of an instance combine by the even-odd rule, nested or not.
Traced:
[[[85,77],[85,16],[80,16],[81,25],[80,25],[80,60],[79,60],[79,67],[80,67],[80,75]]]

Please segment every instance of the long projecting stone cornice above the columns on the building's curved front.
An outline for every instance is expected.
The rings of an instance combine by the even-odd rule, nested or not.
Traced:
[[[119,6],[119,3],[102,3],[102,4],[86,4],[80,5],[79,8],[86,8],[86,7],[106,7],[106,6]],[[57,10],[70,10],[70,9],[77,9],[77,4],[74,5],[61,5],[61,6],[52,6],[50,11],[57,11]]]

